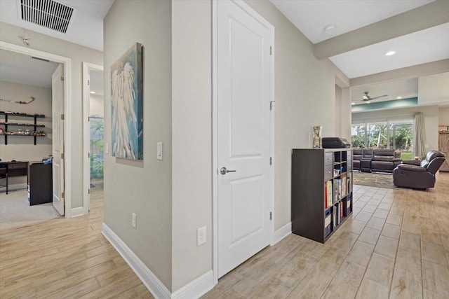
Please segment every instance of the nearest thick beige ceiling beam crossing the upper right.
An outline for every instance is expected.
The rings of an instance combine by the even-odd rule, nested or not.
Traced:
[[[436,0],[411,11],[316,43],[314,55],[322,60],[447,22],[449,22],[449,1]]]

